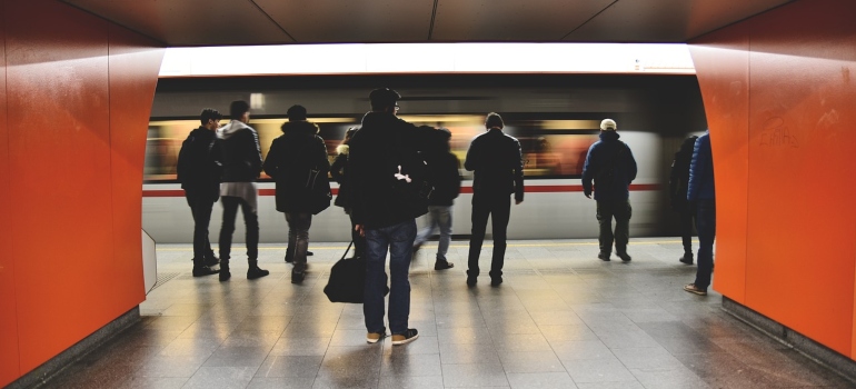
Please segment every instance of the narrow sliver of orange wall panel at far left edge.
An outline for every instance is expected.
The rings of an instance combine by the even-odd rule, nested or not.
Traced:
[[[4,16],[0,2],[0,16]],[[6,18],[0,17],[0,42],[6,39]],[[9,127],[6,117],[6,48],[0,44],[0,248],[12,247],[9,237]],[[18,313],[14,301],[14,257],[0,255],[0,387],[18,378]]]

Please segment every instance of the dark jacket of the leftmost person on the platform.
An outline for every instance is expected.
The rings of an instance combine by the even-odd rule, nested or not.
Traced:
[[[205,127],[190,131],[178,153],[178,181],[188,193],[203,196],[211,201],[220,197],[222,152],[217,134]]]

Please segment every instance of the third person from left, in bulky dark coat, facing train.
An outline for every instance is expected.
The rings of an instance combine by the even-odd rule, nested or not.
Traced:
[[[282,134],[273,139],[262,166],[277,186],[277,210],[286,213],[288,248],[286,262],[293,262],[291,282],[300,283],[306,276],[306,248],[309,245],[309,227],[312,225],[311,193],[307,190],[310,170],[318,170],[318,179],[327,179],[330,162],[327,146],[318,136],[317,124],[306,120],[306,108],[288,109],[288,121],[281,127]]]

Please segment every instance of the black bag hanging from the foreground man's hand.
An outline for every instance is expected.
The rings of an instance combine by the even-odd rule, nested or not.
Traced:
[[[351,302],[362,303],[366,292],[366,258],[355,257],[345,258],[348,255],[354,241],[345,249],[341,259],[334,263],[330,269],[330,279],[324,287],[324,293],[330,302]],[[384,296],[389,293],[389,287],[386,287]]]

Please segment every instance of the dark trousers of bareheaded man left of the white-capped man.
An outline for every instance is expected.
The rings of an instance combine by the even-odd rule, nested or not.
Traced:
[[[494,258],[490,261],[490,277],[502,276],[502,265],[506,256],[506,230],[511,215],[511,198],[472,197],[472,236],[469,239],[469,276],[478,276],[478,257],[481,255],[481,243],[485,241],[487,218],[490,217],[494,228]]]

